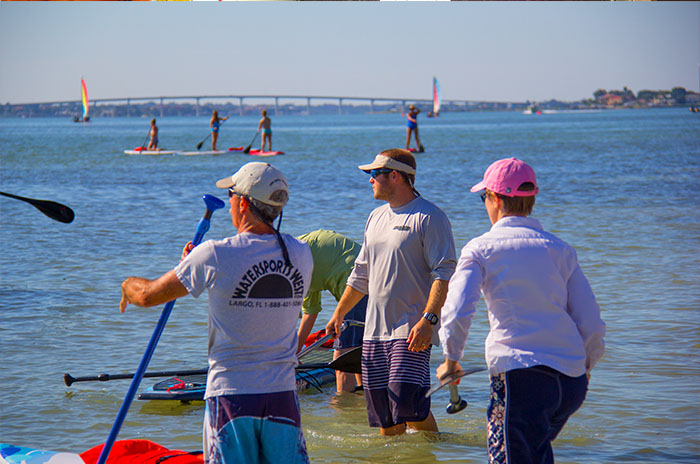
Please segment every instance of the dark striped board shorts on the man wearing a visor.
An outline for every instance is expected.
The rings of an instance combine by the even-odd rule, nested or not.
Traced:
[[[430,348],[408,351],[406,340],[362,344],[362,384],[370,427],[420,422],[430,414]]]

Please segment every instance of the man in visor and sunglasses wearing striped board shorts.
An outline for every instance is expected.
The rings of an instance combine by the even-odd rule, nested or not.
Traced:
[[[445,213],[413,187],[416,161],[385,150],[367,172],[374,198],[386,204],[367,219],[362,249],[326,326],[340,333],[345,314],[369,295],[362,343],[362,383],[371,427],[382,435],[406,428],[437,432],[430,412],[430,350],[457,260]]]

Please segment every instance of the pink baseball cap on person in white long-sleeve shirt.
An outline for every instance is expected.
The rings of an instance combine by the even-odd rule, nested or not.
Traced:
[[[525,182],[531,182],[535,188],[518,190]],[[471,191],[484,189],[507,197],[530,197],[539,192],[535,170],[517,158],[505,158],[492,163],[484,173],[484,179],[472,187]]]

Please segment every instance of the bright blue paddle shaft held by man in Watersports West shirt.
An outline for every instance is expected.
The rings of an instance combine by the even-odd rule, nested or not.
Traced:
[[[209,230],[209,220],[211,219],[211,215],[214,213],[214,211],[224,207],[224,202],[212,195],[204,195],[202,199],[204,200],[207,209],[204,212],[204,216],[202,217],[202,219],[200,219],[199,223],[197,223],[197,231],[195,232],[194,238],[192,239],[192,244],[194,246],[200,244],[202,238],[204,237],[204,234],[206,234]],[[138,390],[139,385],[141,384],[143,374],[146,373],[148,363],[151,362],[153,352],[156,350],[158,340],[160,340],[160,336],[163,333],[163,329],[165,329],[165,324],[168,322],[168,317],[170,317],[170,313],[173,310],[174,306],[175,300],[169,301],[165,304],[163,312],[160,314],[160,319],[158,319],[158,324],[156,324],[156,328],[153,331],[153,335],[151,335],[151,340],[148,342],[146,352],[141,358],[141,362],[139,363],[138,369],[136,369],[136,372],[134,373],[134,378],[131,380],[129,390],[126,392],[126,396],[124,397],[124,401],[122,402],[121,408],[119,408],[117,419],[114,421],[114,425],[112,425],[112,430],[110,430],[109,432],[109,437],[107,437],[107,441],[105,442],[105,445],[102,448],[100,458],[97,461],[98,464],[105,464],[105,462],[107,462],[109,452],[112,450],[112,445],[114,445],[114,442],[117,439],[117,435],[119,435],[119,430],[121,430],[122,425],[124,424],[124,419],[126,419],[126,414],[127,412],[129,412],[131,402],[136,396],[136,390]]]

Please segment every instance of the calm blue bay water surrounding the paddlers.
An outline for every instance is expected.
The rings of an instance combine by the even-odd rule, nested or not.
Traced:
[[[206,118],[159,118],[161,145],[195,148]],[[249,143],[257,118],[234,116],[219,147]],[[495,159],[531,163],[541,193],[534,216],[573,244],[608,325],[607,352],[583,408],[555,442],[562,463],[700,461],[700,116],[687,109],[595,113],[445,114],[421,118],[417,188],[448,214],[458,248],[490,226],[468,188]],[[370,210],[368,178],[356,166],[401,147],[398,115],[273,116],[271,161],[291,182],[283,230],[329,228],[360,241]],[[252,157],[127,156],[145,119],[0,119],[2,191],[71,206],[52,221],[0,197],[0,441],[84,451],[103,443],[129,381],[67,388],[64,372],[133,372],[161,308],[119,314],[119,284],[156,277],[177,263],[204,211],[201,195]],[[208,238],[230,235],[226,211]],[[324,300],[319,321],[333,301]],[[152,369],[206,361],[206,297],[178,301]],[[463,365],[483,365],[483,305]],[[263,327],[260,330],[264,330]],[[441,358],[433,351],[432,364]],[[434,369],[433,369],[434,375]],[[145,379],[142,387],[151,383]],[[317,463],[482,463],[486,460],[484,373],[460,387],[471,405],[433,413],[437,439],[385,439],[366,426],[361,396],[331,389],[301,397],[309,452]],[[202,403],[135,401],[120,438],[201,449]]]

